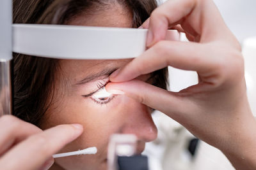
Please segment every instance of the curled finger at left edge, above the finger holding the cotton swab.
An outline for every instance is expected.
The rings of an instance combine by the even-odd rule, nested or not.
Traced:
[[[4,115],[0,118],[0,155],[3,155],[14,144],[39,132],[42,130],[35,125],[11,115]]]

